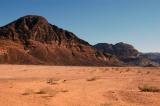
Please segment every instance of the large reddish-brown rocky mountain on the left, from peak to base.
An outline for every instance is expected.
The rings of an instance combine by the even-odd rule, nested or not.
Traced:
[[[72,32],[27,15],[0,27],[0,63],[51,65],[120,65]]]

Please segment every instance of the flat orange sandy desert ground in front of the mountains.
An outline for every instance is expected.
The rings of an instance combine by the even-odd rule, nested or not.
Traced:
[[[0,65],[0,106],[160,106],[160,68]]]

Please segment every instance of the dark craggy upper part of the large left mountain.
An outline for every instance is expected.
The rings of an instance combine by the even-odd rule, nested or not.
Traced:
[[[71,43],[87,42],[76,37],[75,34],[48,23],[42,16],[27,15],[0,28],[0,37],[28,44],[29,41],[54,43],[57,45],[71,45]]]

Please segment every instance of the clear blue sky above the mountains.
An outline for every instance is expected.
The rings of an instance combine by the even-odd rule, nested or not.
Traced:
[[[90,44],[126,42],[160,52],[160,0],[0,0],[0,26],[41,15]]]

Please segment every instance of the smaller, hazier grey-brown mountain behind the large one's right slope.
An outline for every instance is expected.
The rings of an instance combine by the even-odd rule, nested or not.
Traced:
[[[103,53],[109,53],[116,56],[119,60],[126,65],[132,66],[158,66],[159,64],[151,58],[144,56],[132,45],[123,42],[115,45],[108,43],[99,43],[94,45],[94,48],[102,51]]]

